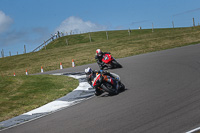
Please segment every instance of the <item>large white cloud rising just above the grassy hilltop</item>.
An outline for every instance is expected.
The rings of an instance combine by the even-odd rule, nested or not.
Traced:
[[[107,29],[106,26],[95,24],[90,21],[83,21],[79,17],[71,16],[66,20],[64,20],[60,24],[60,26],[56,29],[56,31],[68,32],[68,33],[72,31],[74,33],[80,33],[80,32],[102,31],[106,29]]]

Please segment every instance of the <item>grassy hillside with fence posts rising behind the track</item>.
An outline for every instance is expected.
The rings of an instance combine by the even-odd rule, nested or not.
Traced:
[[[64,68],[71,67],[72,59],[76,65],[95,62],[97,48],[109,51],[115,58],[122,58],[141,53],[169,49],[200,42],[200,27],[132,30],[130,36],[127,30],[92,32],[61,37],[54,40],[47,49],[35,53],[17,55],[0,59],[0,74],[12,76],[25,75],[59,69],[62,62]],[[68,41],[68,45],[66,43]]]

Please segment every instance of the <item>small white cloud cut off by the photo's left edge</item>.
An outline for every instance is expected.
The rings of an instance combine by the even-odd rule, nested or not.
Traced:
[[[6,31],[12,22],[13,20],[9,16],[0,11],[0,33]]]

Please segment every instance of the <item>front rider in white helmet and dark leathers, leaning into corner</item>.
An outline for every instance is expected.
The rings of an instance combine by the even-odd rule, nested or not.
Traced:
[[[103,74],[104,77],[104,81],[109,82],[110,84],[112,84],[114,87],[116,87],[117,89],[119,89],[119,83],[114,80],[114,77],[110,74],[110,72],[108,71],[97,71],[97,70],[92,70],[90,67],[85,69],[85,74],[86,74],[86,79],[88,81],[88,83],[92,85],[92,82],[94,80],[94,78],[98,75],[98,74]],[[93,86],[95,89],[95,95],[99,96],[103,93],[103,91],[101,91],[100,89],[98,89],[98,86]]]

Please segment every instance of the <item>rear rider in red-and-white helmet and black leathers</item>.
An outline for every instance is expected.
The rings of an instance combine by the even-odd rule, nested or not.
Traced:
[[[103,69],[104,67],[104,62],[102,61],[102,58],[105,54],[110,54],[110,52],[102,52],[101,49],[97,49],[96,50],[96,55],[95,55],[95,59],[97,61],[97,64],[99,66],[101,66],[100,68]]]

